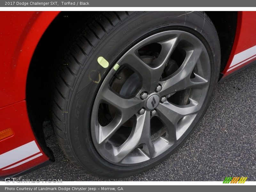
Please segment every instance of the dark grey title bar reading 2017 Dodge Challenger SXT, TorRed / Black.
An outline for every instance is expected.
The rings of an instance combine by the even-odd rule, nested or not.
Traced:
[[[0,1],[0,7],[256,7],[252,0],[53,0]]]

